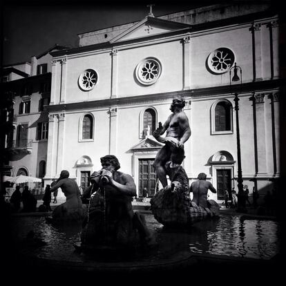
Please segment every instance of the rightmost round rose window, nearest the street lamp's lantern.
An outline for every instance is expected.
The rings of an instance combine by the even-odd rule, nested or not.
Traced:
[[[235,61],[235,56],[229,48],[218,48],[214,50],[207,60],[211,72],[220,74],[226,73]]]

